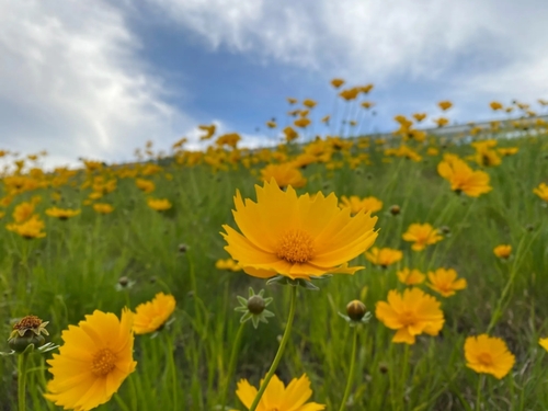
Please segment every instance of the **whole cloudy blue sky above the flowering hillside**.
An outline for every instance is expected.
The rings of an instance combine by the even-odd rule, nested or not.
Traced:
[[[286,98],[332,114],[332,78],[374,83],[362,132],[450,100],[452,122],[489,102],[548,99],[546,0],[0,0],[0,149],[130,161],[197,125],[272,144]],[[341,112],[342,105],[338,105]],[[350,119],[350,118],[349,118]],[[315,125],[315,133],[329,128]]]

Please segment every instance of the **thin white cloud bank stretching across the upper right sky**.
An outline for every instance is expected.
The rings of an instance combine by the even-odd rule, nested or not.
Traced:
[[[543,78],[527,78],[529,67],[540,67],[548,49],[544,0],[149,2],[213,48],[255,54],[326,76],[370,79],[381,87],[406,76],[443,80],[447,90],[461,91],[463,84],[471,87],[489,75],[496,88],[499,79],[507,78],[507,68],[517,80],[514,88],[524,83],[546,93]],[[466,67],[463,59],[475,60],[475,66]],[[504,67],[495,67],[499,60]],[[463,72],[466,81],[449,84],[454,78],[460,81]]]

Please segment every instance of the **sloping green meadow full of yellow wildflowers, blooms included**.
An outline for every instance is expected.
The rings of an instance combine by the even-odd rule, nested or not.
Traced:
[[[547,410],[548,102],[328,87],[253,149],[1,151],[0,410]]]

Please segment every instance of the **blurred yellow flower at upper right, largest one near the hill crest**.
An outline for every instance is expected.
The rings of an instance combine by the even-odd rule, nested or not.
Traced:
[[[437,164],[437,172],[450,183],[455,193],[465,193],[470,197],[479,197],[489,193],[489,174],[484,171],[473,171],[465,161],[456,156],[446,155]]]

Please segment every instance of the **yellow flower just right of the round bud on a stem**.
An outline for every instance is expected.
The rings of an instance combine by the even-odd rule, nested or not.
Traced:
[[[378,301],[375,315],[387,328],[398,330],[395,343],[414,344],[423,332],[437,335],[445,322],[439,301],[419,288],[407,288],[403,295],[390,290],[388,302]]]

